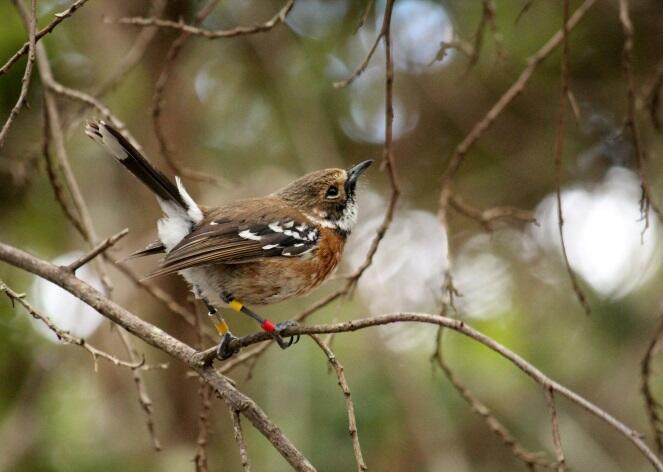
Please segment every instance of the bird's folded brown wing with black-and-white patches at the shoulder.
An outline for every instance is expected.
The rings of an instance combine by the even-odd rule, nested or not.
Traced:
[[[293,218],[206,221],[175,246],[149,277],[205,264],[243,264],[269,257],[302,257],[317,248],[320,233]]]

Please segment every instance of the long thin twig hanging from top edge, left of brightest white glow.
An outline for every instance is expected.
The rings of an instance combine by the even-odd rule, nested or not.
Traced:
[[[587,302],[587,297],[582,291],[580,284],[578,283],[578,278],[571,268],[571,263],[569,262],[569,255],[566,251],[566,241],[564,239],[564,214],[562,212],[562,154],[564,152],[564,128],[566,126],[566,102],[568,100],[568,91],[569,87],[569,28],[568,28],[568,18],[569,18],[569,0],[564,0],[563,2],[563,22],[562,22],[562,86],[559,95],[559,119],[557,122],[557,135],[555,137],[555,151],[554,151],[554,162],[555,162],[555,198],[557,200],[557,228],[559,231],[559,241],[562,249],[562,257],[564,258],[564,267],[566,267],[566,273],[569,275],[569,280],[571,282],[571,287],[573,292],[578,299],[578,302],[582,306],[586,315],[591,313],[589,303]]]

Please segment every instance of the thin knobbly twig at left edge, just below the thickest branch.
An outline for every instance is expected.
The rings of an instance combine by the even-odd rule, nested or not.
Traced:
[[[92,355],[95,371],[97,370],[98,359],[104,359],[108,362],[111,362],[113,365],[116,365],[118,367],[126,367],[134,371],[168,368],[168,364],[156,364],[156,365],[145,364],[144,359],[131,359],[131,361],[123,361],[121,359],[118,359],[114,355],[92,346],[85,339],[74,336],[69,331],[65,331],[63,329],[58,328],[48,316],[39,312],[25,299],[25,294],[15,292],[11,288],[9,288],[2,280],[0,280],[0,291],[3,292],[5,295],[7,295],[7,297],[11,300],[12,304],[16,302],[19,303],[34,319],[44,323],[44,325],[46,325],[46,327],[49,330],[51,330],[60,341],[62,341],[65,344],[71,344],[72,346],[82,347],[83,349],[88,351]]]

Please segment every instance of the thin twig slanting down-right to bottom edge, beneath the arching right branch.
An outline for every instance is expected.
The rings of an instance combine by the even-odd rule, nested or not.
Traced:
[[[444,328],[440,326],[437,330],[437,340],[435,343],[435,349],[431,355],[431,361],[435,362],[442,372],[446,375],[447,379],[456,389],[456,391],[463,397],[472,411],[479,415],[481,419],[484,420],[488,429],[490,429],[503,443],[506,447],[511,450],[511,453],[514,457],[522,461],[525,466],[530,470],[535,470],[536,467],[544,467],[546,469],[552,469],[553,466],[543,459],[540,453],[535,453],[528,451],[518,440],[506,429],[490,409],[477,398],[477,396],[468,389],[461,381],[458,379],[456,374],[451,370],[443,356],[442,349],[442,335]]]

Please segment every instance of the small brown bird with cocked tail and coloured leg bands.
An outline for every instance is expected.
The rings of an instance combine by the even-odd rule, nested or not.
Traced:
[[[269,195],[215,207],[197,204],[182,180],[173,183],[112,125],[89,121],[86,134],[156,196],[163,217],[158,240],[129,257],[162,255],[146,278],[179,274],[215,318],[219,359],[236,353],[237,339],[221,308],[244,313],[282,349],[299,340],[281,332],[293,321],[273,323],[247,305],[270,305],[306,294],[338,265],[357,222],[357,180],[373,163],[308,173]]]

